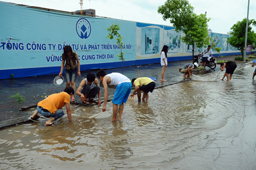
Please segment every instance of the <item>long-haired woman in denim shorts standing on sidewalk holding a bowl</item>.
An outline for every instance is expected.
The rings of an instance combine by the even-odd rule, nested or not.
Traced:
[[[62,66],[61,72],[58,75],[62,75],[65,65],[65,75],[66,75],[66,87],[71,87],[76,90],[76,78],[77,75],[81,76],[80,73],[80,62],[78,54],[72,51],[70,45],[64,47],[64,53],[62,54]],[[74,101],[74,98],[72,98]]]

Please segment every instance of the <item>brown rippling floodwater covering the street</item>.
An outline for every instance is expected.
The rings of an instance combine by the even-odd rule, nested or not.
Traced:
[[[193,75],[155,89],[148,103],[129,99],[122,122],[87,118],[102,106],[74,105],[72,122],[3,129],[0,168],[256,169],[253,70],[237,69],[231,82],[220,80],[223,72]]]

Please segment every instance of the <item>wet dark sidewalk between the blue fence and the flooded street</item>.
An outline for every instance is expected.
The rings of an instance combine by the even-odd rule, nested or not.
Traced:
[[[217,57],[217,60],[234,60],[236,56],[224,56],[223,58]],[[124,68],[124,75],[129,79],[139,78],[139,77],[154,77],[156,78],[156,88],[160,88],[167,85],[172,85],[175,83],[180,83],[183,81],[188,81],[183,79],[183,74],[179,72],[181,68],[186,63],[192,63],[192,60],[186,61],[175,61],[168,63],[168,67],[165,71],[164,78],[168,80],[167,82],[161,82],[161,69],[160,64],[145,65],[145,66],[133,66]],[[236,61],[237,65],[244,64],[243,61]],[[81,72],[81,77],[77,77],[76,86],[78,87],[81,80],[86,78],[87,73],[95,73],[98,70],[93,71],[83,71]],[[122,68],[108,69],[105,70],[107,73],[119,72],[122,73]],[[205,73],[219,71],[219,66],[215,70],[206,69]],[[55,75],[45,75],[29,78],[20,79],[8,79],[0,80],[0,96],[2,98],[0,102],[0,129],[18,125],[19,123],[30,121],[28,120],[28,115],[25,111],[29,108],[33,108],[37,105],[40,100],[43,100],[48,95],[61,92],[65,88],[65,82],[62,85],[56,86],[53,80],[57,76]],[[109,100],[112,100],[114,95],[114,88],[109,88]],[[11,95],[15,95],[20,92],[20,95],[24,97],[25,102],[22,104],[17,104],[16,99],[10,98]],[[103,101],[104,90],[101,87],[101,99]],[[111,97],[112,95],[112,97]],[[81,104],[80,97],[75,95],[76,102],[72,104]],[[71,104],[71,105],[72,105]],[[87,105],[84,105],[87,106]],[[72,107],[72,106],[71,106]]]

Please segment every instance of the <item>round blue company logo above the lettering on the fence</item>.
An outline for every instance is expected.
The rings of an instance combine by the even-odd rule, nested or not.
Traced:
[[[91,35],[91,24],[85,18],[78,20],[76,29],[78,36],[82,39],[86,39]]]

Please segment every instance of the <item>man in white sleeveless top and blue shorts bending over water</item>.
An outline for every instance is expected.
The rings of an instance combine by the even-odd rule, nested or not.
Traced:
[[[112,121],[116,121],[117,110],[119,105],[119,117],[118,120],[122,120],[122,114],[124,110],[124,103],[126,103],[130,92],[131,92],[131,81],[127,78],[127,76],[121,73],[110,73],[106,74],[104,70],[99,70],[97,72],[97,77],[102,82],[104,87],[104,103],[102,107],[102,112],[105,112],[107,109],[107,101],[108,101],[108,85],[115,85],[115,94],[112,100],[113,103],[113,116]]]

